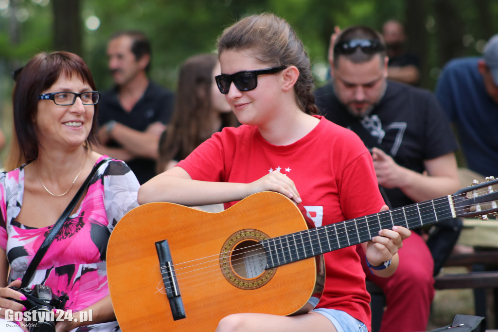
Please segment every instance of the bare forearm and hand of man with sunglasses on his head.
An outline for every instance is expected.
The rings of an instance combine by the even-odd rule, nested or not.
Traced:
[[[397,165],[380,149],[373,148],[372,151],[378,183],[386,188],[398,187],[416,202],[449,195],[460,188],[453,153],[424,161],[425,175]]]

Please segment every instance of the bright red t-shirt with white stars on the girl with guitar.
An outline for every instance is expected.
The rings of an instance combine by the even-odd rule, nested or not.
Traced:
[[[379,212],[384,202],[370,153],[352,131],[317,118],[319,124],[308,135],[286,146],[268,143],[254,126],[225,128],[177,166],[195,180],[238,183],[278,170],[294,181],[310,227]],[[326,253],[325,265],[318,307],[345,311],[370,330],[370,295],[355,247]]]

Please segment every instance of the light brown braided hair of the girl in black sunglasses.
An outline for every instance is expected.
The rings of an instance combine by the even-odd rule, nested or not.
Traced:
[[[296,103],[307,114],[318,114],[308,54],[294,29],[283,18],[262,13],[241,19],[223,31],[218,53],[255,49],[256,59],[270,66],[296,66],[299,78],[294,85]]]

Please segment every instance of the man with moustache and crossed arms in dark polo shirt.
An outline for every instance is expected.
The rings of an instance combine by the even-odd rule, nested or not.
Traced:
[[[107,55],[116,85],[99,102],[98,151],[125,161],[142,184],[155,175],[159,137],[174,95],[147,77],[151,46],[143,33],[115,33]]]

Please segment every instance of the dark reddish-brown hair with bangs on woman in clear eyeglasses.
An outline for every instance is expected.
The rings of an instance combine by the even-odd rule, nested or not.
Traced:
[[[62,74],[67,77],[77,75],[95,90],[92,74],[85,61],[69,52],[38,53],[29,60],[17,77],[12,94],[14,130],[20,155],[25,163],[38,158],[40,143],[35,131],[38,96],[43,90],[51,87]],[[87,147],[97,143],[98,104],[94,107],[92,129],[86,140]]]

